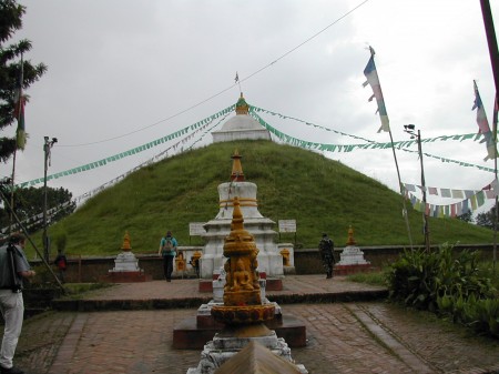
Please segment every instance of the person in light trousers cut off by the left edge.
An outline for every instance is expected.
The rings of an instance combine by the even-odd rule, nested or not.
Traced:
[[[1,374],[24,373],[13,366],[24,314],[22,280],[37,275],[26,257],[24,245],[24,235],[12,234],[7,244],[0,246],[0,311],[6,321],[0,350]]]

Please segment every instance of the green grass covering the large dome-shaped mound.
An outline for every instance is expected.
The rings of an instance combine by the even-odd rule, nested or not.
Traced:
[[[258,186],[259,212],[276,223],[296,220],[298,246],[316,247],[322,232],[343,246],[350,225],[360,246],[409,244],[399,194],[322,154],[271,141],[211,144],[143,168],[50,226],[49,234],[53,242],[67,235],[69,255],[114,255],[125,232],[134,253],[157,251],[167,230],[189,245],[189,223],[218,213],[217,185],[230,181],[236,149],[246,181]],[[408,210],[413,241],[422,244],[421,214],[410,204]],[[490,230],[459,220],[431,218],[429,226],[435,244],[492,241]],[[33,239],[41,249],[41,235]],[[192,237],[192,244],[202,241]]]

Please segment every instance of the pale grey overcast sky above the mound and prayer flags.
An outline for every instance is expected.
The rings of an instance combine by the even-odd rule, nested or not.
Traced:
[[[395,141],[409,139],[403,132],[407,123],[415,123],[424,139],[477,132],[473,79],[491,123],[495,87],[478,0],[20,3],[27,13],[16,39],[30,39],[33,48],[26,59],[43,62],[49,70],[27,91],[30,138],[17,159],[17,183],[43,176],[44,135],[59,140],[49,174],[111,156],[235,103],[236,71],[249,104],[388,142],[387,132],[377,133],[376,103],[368,102],[373,92],[361,85],[368,46],[376,50]],[[499,2],[491,3],[497,26]],[[303,140],[359,143],[262,115]],[[203,141],[211,140],[208,133]],[[173,143],[49,185],[81,195]],[[435,142],[424,144],[424,151],[493,169],[493,161],[483,161],[487,151],[478,142]],[[327,156],[398,191],[391,150]],[[398,151],[397,158],[403,182],[420,184],[417,155]],[[476,168],[424,161],[427,185],[475,190],[493,179]],[[11,163],[2,166],[0,176],[10,174]]]

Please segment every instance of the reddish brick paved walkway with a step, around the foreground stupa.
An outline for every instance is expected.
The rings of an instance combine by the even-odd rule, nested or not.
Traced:
[[[286,276],[284,290],[267,296],[309,300],[279,305],[283,314],[306,325],[307,346],[293,348],[292,355],[310,374],[499,373],[498,341],[475,337],[430,314],[383,300],[360,301],[380,291],[342,277],[298,275]],[[194,316],[196,307],[142,306],[150,300],[173,300],[176,305],[185,300],[190,305],[206,296],[197,292],[196,280],[119,284],[90,292],[85,301],[100,309],[112,302],[109,305],[118,310],[50,312],[26,321],[16,364],[30,374],[184,374],[197,365],[201,352],[174,350],[172,331]],[[119,310],[120,304],[126,310]]]

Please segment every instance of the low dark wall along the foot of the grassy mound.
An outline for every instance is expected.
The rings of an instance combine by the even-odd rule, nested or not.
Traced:
[[[194,252],[198,247],[181,247],[182,251]],[[483,260],[492,260],[492,244],[482,245],[461,245],[456,250],[470,249],[480,250]],[[339,260],[339,253],[343,249],[335,249],[336,261]],[[360,247],[364,257],[370,262],[373,267],[380,269],[390,262],[397,260],[399,253],[404,251],[400,246],[370,246]],[[316,249],[295,250],[295,270],[296,274],[319,274],[324,273],[318,251]],[[118,253],[116,253],[118,255]],[[135,254],[139,260],[139,267],[145,274],[152,275],[153,280],[163,279],[163,262],[156,254]],[[82,257],[68,254],[69,264],[65,273],[67,282],[99,282],[99,280],[114,267],[115,256],[106,257]],[[40,265],[40,261],[32,261],[33,265]],[[194,269],[189,264],[187,271],[174,276],[196,277]]]

